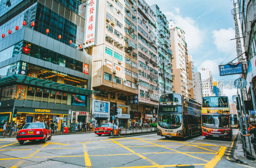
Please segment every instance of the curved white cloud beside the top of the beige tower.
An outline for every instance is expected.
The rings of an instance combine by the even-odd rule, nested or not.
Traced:
[[[175,8],[175,11],[179,13],[179,8]],[[197,27],[197,23],[190,17],[181,17],[170,11],[164,12],[164,15],[168,19],[172,19],[177,27],[181,27],[185,31],[185,38],[188,44],[188,51],[199,49],[202,45],[205,32]],[[170,27],[170,25],[169,25]]]

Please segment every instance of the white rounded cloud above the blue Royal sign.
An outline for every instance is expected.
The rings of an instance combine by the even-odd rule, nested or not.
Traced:
[[[224,53],[230,53],[236,46],[235,30],[233,28],[213,30],[212,37],[217,49]]]

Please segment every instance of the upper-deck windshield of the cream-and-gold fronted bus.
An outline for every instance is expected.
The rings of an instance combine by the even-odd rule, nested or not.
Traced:
[[[182,96],[179,94],[161,95],[159,105],[180,105],[182,106]]]

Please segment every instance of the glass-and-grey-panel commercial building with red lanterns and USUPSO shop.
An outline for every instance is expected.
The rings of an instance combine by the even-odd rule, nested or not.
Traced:
[[[17,0],[0,3],[2,123],[88,122],[92,56],[84,50],[85,10],[81,1]],[[88,53],[87,53],[88,52]],[[14,108],[15,106],[15,108]],[[59,122],[59,129],[61,120]],[[0,129],[3,128],[1,125]]]

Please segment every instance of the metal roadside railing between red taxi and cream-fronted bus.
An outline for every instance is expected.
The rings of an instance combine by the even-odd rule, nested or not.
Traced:
[[[150,131],[149,126],[138,126],[138,125],[128,125],[128,124],[119,124],[119,128],[121,128],[121,133],[137,133],[137,132],[147,132]]]

